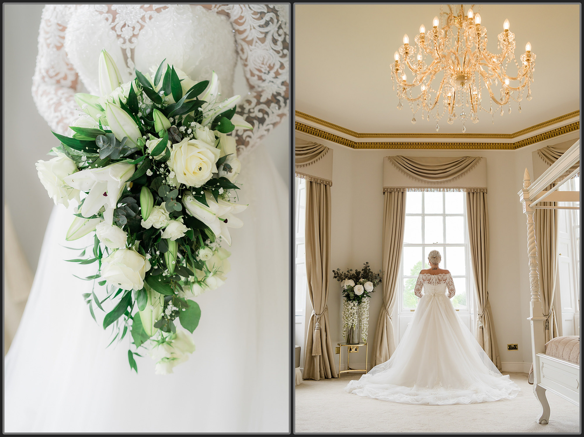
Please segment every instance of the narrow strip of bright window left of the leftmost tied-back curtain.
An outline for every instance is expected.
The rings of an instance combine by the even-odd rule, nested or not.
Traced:
[[[306,211],[306,181],[296,179],[296,208],[294,209],[296,217],[294,220],[295,229],[295,243],[294,243],[294,253],[296,257],[296,291],[294,293],[296,299],[296,315],[304,316],[306,311],[306,292],[307,292],[307,280],[306,280],[306,252],[305,252],[305,240],[304,240],[304,223],[305,223],[305,211]]]

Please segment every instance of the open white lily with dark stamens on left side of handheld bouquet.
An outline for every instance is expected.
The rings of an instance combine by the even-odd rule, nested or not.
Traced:
[[[113,210],[134,170],[133,164],[119,162],[97,169],[85,169],[65,177],[64,180],[71,187],[89,191],[81,207],[81,214],[84,217],[97,214],[99,209],[105,206],[106,212],[103,217],[111,225]]]

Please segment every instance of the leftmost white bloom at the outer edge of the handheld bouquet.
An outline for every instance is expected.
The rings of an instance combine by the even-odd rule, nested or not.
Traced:
[[[47,190],[48,197],[57,204],[69,207],[69,200],[79,202],[79,190],[69,186],[64,181],[65,177],[78,172],[74,160],[67,158],[63,153],[58,153],[57,158],[48,161],[39,160],[36,163],[37,173],[41,184]]]

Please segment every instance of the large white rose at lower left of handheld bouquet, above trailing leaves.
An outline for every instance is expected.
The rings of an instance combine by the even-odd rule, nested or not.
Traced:
[[[115,250],[102,261],[102,278],[124,290],[142,289],[148,270],[150,261],[131,249]]]

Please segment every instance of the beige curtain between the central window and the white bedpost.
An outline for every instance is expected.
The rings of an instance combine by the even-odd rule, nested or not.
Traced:
[[[500,370],[501,359],[495,324],[489,303],[489,214],[486,193],[467,193],[467,222],[472,271],[477,288],[477,327],[475,338]]]

